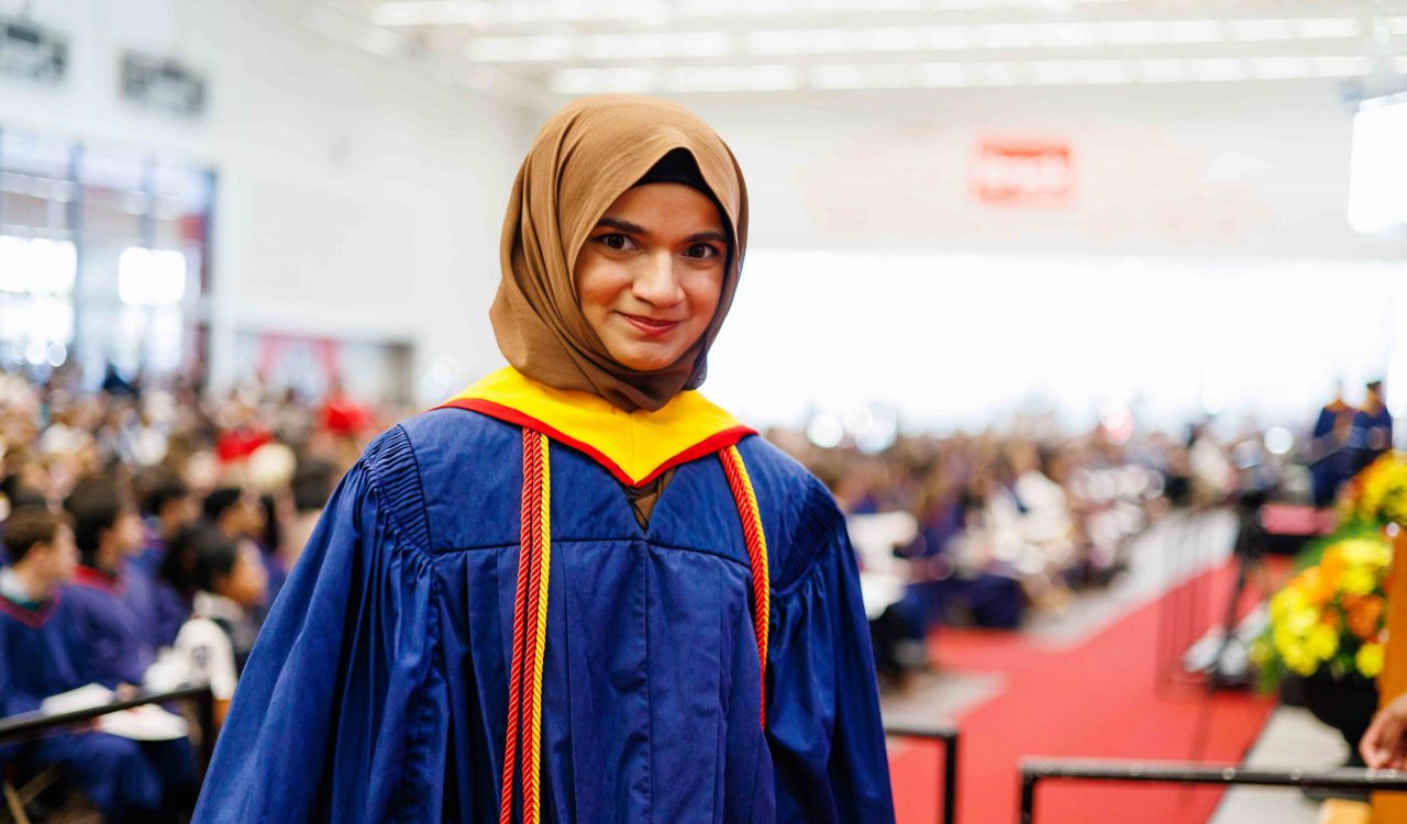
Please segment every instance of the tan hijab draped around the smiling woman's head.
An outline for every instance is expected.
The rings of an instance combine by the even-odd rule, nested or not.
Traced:
[[[694,156],[723,207],[734,247],[702,337],[677,363],[636,371],[616,363],[587,323],[571,269],[606,208],[673,149]],[[542,128],[514,181],[501,243],[504,278],[488,309],[498,349],[518,371],[549,387],[594,392],[626,412],[658,409],[704,382],[746,247],[743,172],[708,124],[663,100],[577,100]]]

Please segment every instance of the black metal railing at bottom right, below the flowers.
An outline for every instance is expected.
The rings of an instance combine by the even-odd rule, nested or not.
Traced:
[[[1407,772],[1387,769],[1258,769],[1169,761],[1027,759],[1021,762],[1020,824],[1036,823],[1041,780],[1317,787],[1325,790],[1407,792]]]

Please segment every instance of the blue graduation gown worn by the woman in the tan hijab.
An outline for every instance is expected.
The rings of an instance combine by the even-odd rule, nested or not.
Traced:
[[[893,820],[844,520],[760,437],[739,444],[771,567],[767,727],[749,557],[715,456],[649,529],[553,442],[542,820]],[[348,472],[235,693],[196,821],[497,821],[522,436],[461,409]]]

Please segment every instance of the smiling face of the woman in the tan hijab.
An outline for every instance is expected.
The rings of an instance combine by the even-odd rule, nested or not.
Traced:
[[[618,363],[677,363],[708,329],[723,291],[727,235],[713,201],[682,183],[626,190],[577,253],[577,300]]]

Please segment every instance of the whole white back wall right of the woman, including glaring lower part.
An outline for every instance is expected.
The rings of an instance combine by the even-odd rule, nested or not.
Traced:
[[[1045,402],[1168,426],[1206,401],[1294,423],[1380,375],[1404,409],[1407,238],[1348,226],[1335,83],[692,103],[753,207],[706,390],[754,419],[877,402],[982,427]],[[1068,142],[1069,207],[978,202],[983,136]]]

